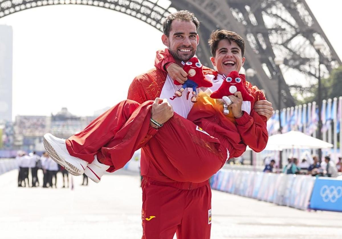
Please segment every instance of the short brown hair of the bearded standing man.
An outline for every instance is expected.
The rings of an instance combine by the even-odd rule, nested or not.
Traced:
[[[199,28],[199,20],[195,17],[195,14],[188,10],[181,10],[181,11],[170,14],[163,21],[163,33],[166,36],[169,36],[170,34],[171,24],[173,20],[193,22],[196,26],[196,30]]]

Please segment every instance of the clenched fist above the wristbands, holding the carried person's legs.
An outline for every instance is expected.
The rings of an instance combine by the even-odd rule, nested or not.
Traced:
[[[167,122],[173,116],[173,109],[167,99],[156,98],[152,104],[151,118],[159,124]]]

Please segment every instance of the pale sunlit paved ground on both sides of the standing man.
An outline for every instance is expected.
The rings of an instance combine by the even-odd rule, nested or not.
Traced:
[[[18,188],[17,171],[0,175],[1,239],[141,238],[140,177],[105,175],[74,190]],[[308,212],[213,191],[211,238],[342,238],[342,213]],[[193,239],[193,238],[189,238]]]

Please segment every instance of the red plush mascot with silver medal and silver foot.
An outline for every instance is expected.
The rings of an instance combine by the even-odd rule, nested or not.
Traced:
[[[232,71],[228,76],[223,75],[223,83],[218,90],[211,93],[210,97],[214,99],[222,99],[224,102],[224,114],[229,114],[228,106],[232,103],[229,99],[230,95],[235,92],[241,92],[244,101],[252,101],[254,98],[251,93],[246,89],[246,76],[239,74],[237,71]]]

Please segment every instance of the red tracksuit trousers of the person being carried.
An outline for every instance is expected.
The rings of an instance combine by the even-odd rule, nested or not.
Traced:
[[[107,171],[113,172],[122,168],[137,149],[154,137],[148,145],[155,156],[150,160],[170,179],[203,182],[224,165],[226,147],[176,113],[157,132],[151,130],[152,103],[120,102],[66,140],[68,152],[89,163],[96,154],[99,161],[111,166]]]

